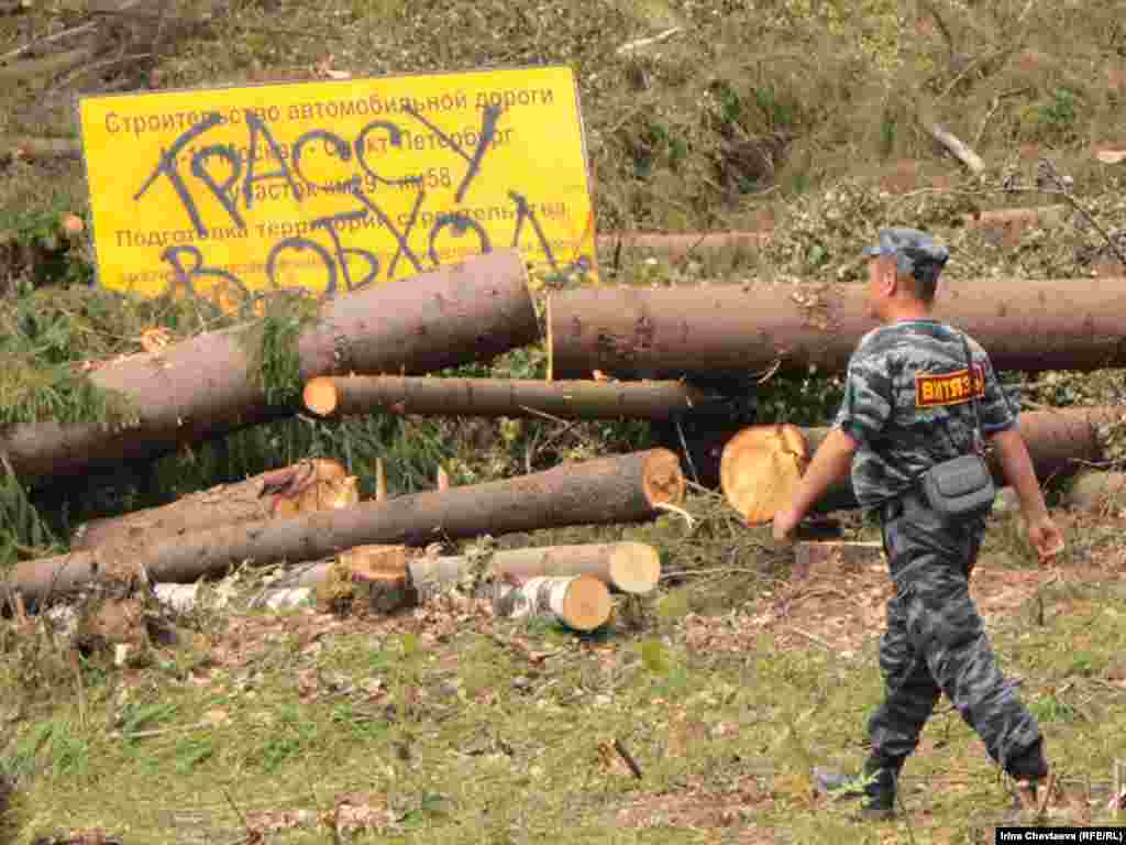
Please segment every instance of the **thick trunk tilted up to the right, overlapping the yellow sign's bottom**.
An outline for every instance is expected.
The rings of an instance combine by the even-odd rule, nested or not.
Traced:
[[[0,452],[26,479],[75,474],[293,413],[297,403],[267,403],[244,348],[251,328],[200,335],[90,373],[98,388],[131,400],[133,425],[15,426],[0,434]],[[330,300],[300,337],[301,379],[426,373],[488,361],[538,332],[519,252],[493,252]]]

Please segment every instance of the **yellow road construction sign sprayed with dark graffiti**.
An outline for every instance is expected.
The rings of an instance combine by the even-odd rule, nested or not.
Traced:
[[[570,68],[83,97],[105,287],[321,295],[519,247],[597,281]]]

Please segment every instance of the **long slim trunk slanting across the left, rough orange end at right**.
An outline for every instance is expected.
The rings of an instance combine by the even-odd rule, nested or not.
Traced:
[[[420,546],[438,540],[506,534],[569,525],[643,522],[685,495],[679,459],[668,450],[566,463],[506,481],[443,492],[366,501],[289,519],[222,525],[144,544],[102,544],[91,551],[24,561],[8,573],[5,592],[42,602],[96,578],[189,582],[253,560],[296,563],[375,543]],[[0,596],[2,598],[3,596]]]

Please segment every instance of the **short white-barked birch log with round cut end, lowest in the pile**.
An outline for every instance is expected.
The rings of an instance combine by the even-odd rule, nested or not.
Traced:
[[[549,616],[573,631],[593,631],[610,619],[610,592],[586,575],[531,578],[522,584],[498,584],[493,611],[498,616]]]

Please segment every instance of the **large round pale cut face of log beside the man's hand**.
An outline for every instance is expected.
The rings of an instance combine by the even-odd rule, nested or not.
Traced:
[[[793,498],[808,456],[808,443],[796,426],[744,428],[720,459],[723,495],[748,525],[768,523]]]

